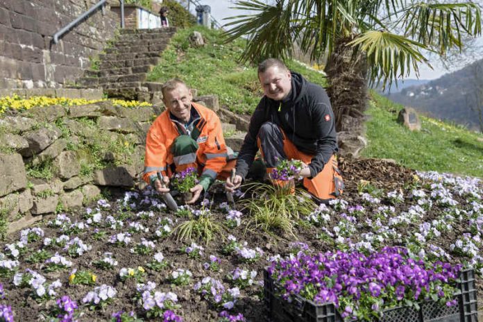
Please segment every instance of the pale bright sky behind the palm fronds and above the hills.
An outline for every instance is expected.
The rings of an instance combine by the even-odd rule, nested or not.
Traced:
[[[219,24],[223,25],[229,22],[229,20],[223,20],[226,17],[232,17],[235,15],[243,15],[249,14],[251,12],[244,12],[242,10],[233,9],[230,7],[234,6],[234,0],[198,0],[199,3],[203,5],[207,5],[211,7],[211,15],[216,19]],[[195,13],[194,6],[191,5],[190,10]],[[480,39],[480,43],[483,43],[483,38]],[[476,58],[480,58],[481,55],[475,55]],[[471,62],[472,60],[466,58],[466,62]],[[456,71],[457,69],[461,69],[464,67],[463,63],[454,63],[450,66],[450,69],[446,69],[441,61],[438,58],[430,58],[430,64],[432,65],[433,69],[427,67],[427,65],[419,65],[419,79],[424,80],[432,80],[443,76],[444,74],[450,73],[452,71]],[[412,72],[408,78],[416,78],[416,74]]]

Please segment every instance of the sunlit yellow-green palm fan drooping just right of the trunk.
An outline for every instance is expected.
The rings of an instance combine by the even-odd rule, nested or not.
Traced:
[[[418,74],[418,64],[430,66],[428,60],[419,51],[425,46],[407,37],[385,31],[367,31],[350,46],[359,46],[366,53],[369,66],[369,82],[380,82],[385,87],[392,80],[409,76],[413,69]]]

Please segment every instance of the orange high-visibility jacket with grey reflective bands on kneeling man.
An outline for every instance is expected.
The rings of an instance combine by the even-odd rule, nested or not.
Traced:
[[[202,167],[204,164],[201,176],[210,176],[214,180],[226,165],[227,151],[221,121],[212,110],[203,105],[192,103],[192,108],[195,108],[201,117],[198,124],[205,123],[196,139],[199,146],[196,163]],[[167,175],[169,165],[173,164],[171,144],[178,135],[180,133],[175,122],[169,117],[169,111],[165,110],[155,119],[146,136],[143,175],[146,183],[150,183],[151,176],[156,176],[158,171],[161,171],[163,176]]]

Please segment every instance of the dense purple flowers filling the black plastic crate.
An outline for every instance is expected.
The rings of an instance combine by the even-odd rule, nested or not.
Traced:
[[[344,317],[358,317],[359,307],[360,312],[380,311],[400,305],[402,300],[437,296],[451,305],[455,289],[450,284],[460,269],[460,265],[443,262],[426,264],[409,258],[405,248],[385,247],[370,255],[337,251],[311,256],[300,252],[272,262],[268,271],[282,286],[283,298],[291,300],[299,294],[316,303],[334,303]]]

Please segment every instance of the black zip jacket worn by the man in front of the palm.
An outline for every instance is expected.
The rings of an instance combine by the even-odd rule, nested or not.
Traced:
[[[282,128],[299,151],[312,154],[312,177],[336,152],[334,112],[325,90],[291,71],[291,91],[282,101],[263,96],[251,116],[248,133],[237,158],[237,174],[245,178],[258,151],[257,135],[262,124],[271,121]]]

